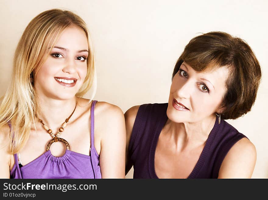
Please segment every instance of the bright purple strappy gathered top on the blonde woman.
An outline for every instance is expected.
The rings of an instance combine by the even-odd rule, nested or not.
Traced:
[[[94,147],[94,108],[91,105],[90,155],[66,149],[61,157],[55,157],[50,150],[32,162],[19,168],[18,155],[14,154],[15,165],[10,178],[101,178],[99,155]]]

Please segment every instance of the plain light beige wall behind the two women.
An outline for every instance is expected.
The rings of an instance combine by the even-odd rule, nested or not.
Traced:
[[[256,146],[252,177],[268,178],[267,1],[1,0],[0,4],[1,96],[10,82],[23,30],[33,17],[52,8],[72,10],[86,21],[96,53],[95,99],[118,105],[123,112],[133,105],[168,101],[174,64],[199,32],[218,30],[241,37],[259,59],[263,77],[252,111],[228,123]]]

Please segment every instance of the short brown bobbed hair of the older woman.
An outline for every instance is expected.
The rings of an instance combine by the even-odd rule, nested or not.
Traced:
[[[248,113],[256,100],[261,79],[259,62],[249,45],[238,37],[224,32],[209,32],[190,40],[179,57],[172,74],[182,62],[200,72],[227,66],[227,91],[222,100],[223,119],[237,119]]]

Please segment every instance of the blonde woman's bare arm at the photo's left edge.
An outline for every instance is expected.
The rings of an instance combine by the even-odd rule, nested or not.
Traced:
[[[10,178],[9,127],[0,129],[0,178]]]

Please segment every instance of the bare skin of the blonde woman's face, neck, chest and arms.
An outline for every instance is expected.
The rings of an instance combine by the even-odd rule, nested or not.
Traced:
[[[86,77],[86,34],[79,27],[70,26],[62,32],[55,46],[60,48],[52,49],[51,55],[34,77],[34,88],[42,111],[39,117],[53,133],[57,133],[58,128],[72,113],[77,100],[76,110],[60,137],[69,142],[71,151],[90,155],[92,102],[88,103],[88,99],[75,96]],[[74,87],[65,87],[54,77],[72,77],[76,78],[77,82]],[[30,138],[20,151],[23,166],[42,155],[48,141],[52,139],[40,122],[35,125],[37,130],[35,131],[32,124]],[[0,170],[0,176],[3,178],[9,178],[10,170],[14,166],[14,156],[8,153],[9,131],[8,127],[0,130],[0,145],[4,146],[0,150],[0,156],[5,163]],[[100,155],[102,178],[125,178],[125,134],[122,110],[107,102],[97,102],[94,111],[94,146]],[[50,149],[52,155],[58,157],[65,153],[66,147],[62,142],[56,142]]]

